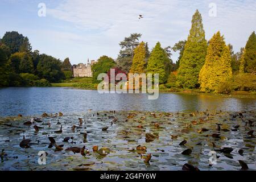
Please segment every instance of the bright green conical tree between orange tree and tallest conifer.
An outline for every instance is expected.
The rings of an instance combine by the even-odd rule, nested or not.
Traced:
[[[159,83],[163,84],[170,75],[171,64],[166,51],[158,42],[150,54],[147,64],[147,73],[159,73]]]

